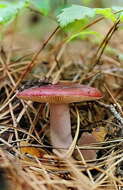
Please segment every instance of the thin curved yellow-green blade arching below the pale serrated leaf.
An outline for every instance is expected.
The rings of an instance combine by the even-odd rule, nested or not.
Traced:
[[[88,37],[89,35],[99,35],[98,32],[95,32],[93,30],[84,30],[82,32],[79,32],[77,34],[72,35],[68,40],[67,43],[70,42],[71,40],[74,40],[76,38],[80,38],[80,39],[85,39],[86,37]]]

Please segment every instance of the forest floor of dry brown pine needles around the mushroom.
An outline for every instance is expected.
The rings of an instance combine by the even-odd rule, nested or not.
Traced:
[[[100,42],[92,36],[66,44],[65,35],[55,29],[48,41],[52,32],[46,41],[13,26],[5,33],[0,50],[0,190],[122,189],[123,32],[105,22],[95,27],[103,34]],[[101,100],[70,105],[73,144],[65,158],[52,151],[49,106],[16,97],[25,81],[30,85],[39,79],[77,82],[103,94]],[[85,132],[96,139],[84,144],[86,152],[95,151],[91,160],[83,157],[78,143]]]

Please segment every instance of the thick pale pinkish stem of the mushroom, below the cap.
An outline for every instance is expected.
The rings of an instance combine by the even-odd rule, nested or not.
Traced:
[[[50,135],[53,147],[61,148],[58,152],[68,150],[72,143],[68,104],[50,104]]]

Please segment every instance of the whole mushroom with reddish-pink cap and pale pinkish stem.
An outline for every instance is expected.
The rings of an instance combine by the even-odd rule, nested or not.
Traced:
[[[93,87],[62,82],[28,88],[18,92],[17,96],[24,100],[49,103],[51,143],[61,151],[67,150],[72,143],[69,103],[100,99],[102,94]]]

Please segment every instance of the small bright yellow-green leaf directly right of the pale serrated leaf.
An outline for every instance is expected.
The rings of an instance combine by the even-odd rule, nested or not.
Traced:
[[[96,14],[100,14],[100,15],[104,16],[105,18],[112,20],[113,22],[116,21],[116,16],[112,12],[111,8],[104,8],[104,9],[96,8],[95,11],[96,11]]]

